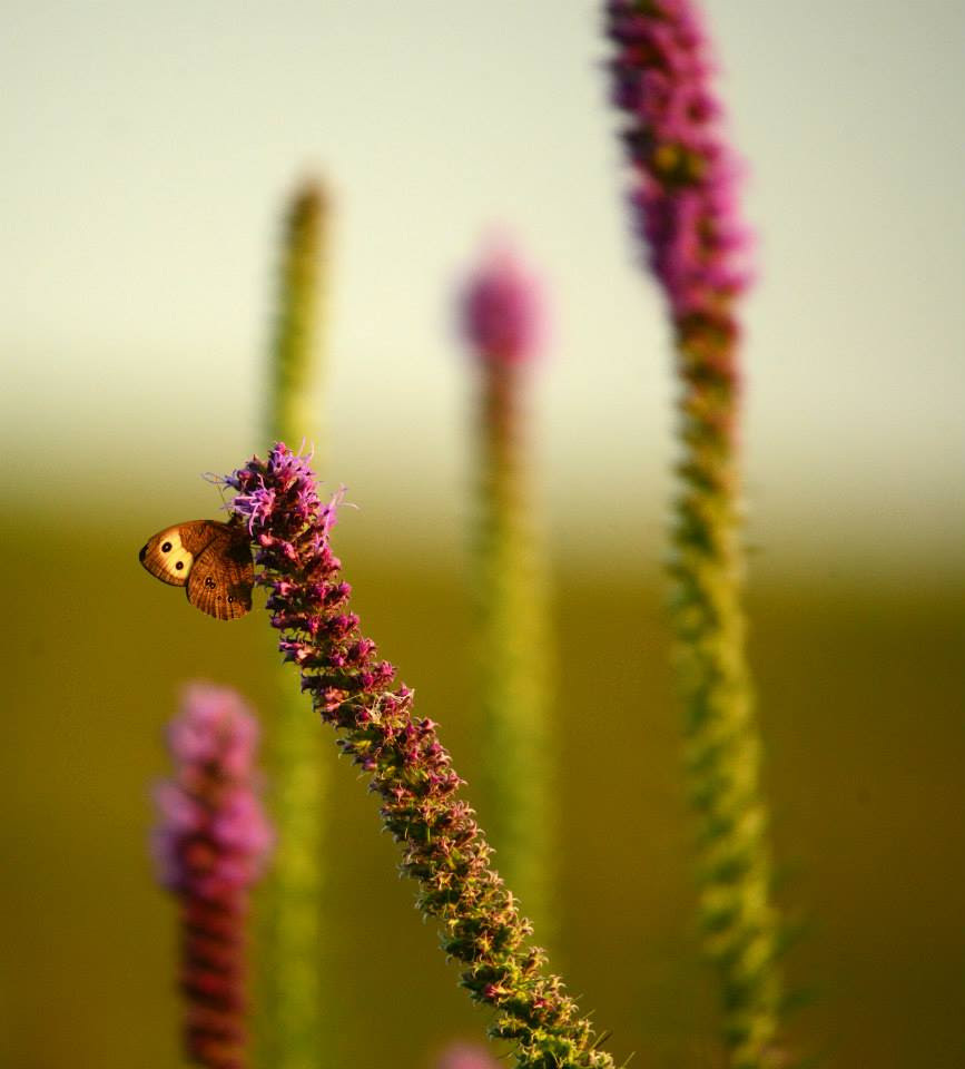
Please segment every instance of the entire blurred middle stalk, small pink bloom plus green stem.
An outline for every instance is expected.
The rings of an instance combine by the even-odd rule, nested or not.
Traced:
[[[488,823],[500,873],[545,938],[552,881],[550,643],[524,411],[540,305],[535,281],[502,245],[470,278],[461,312],[479,372],[472,570],[483,787],[492,802]]]

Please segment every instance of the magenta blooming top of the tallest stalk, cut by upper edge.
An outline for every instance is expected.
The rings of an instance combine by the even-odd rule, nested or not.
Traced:
[[[613,102],[631,116],[630,202],[674,318],[719,310],[750,281],[739,166],[721,136],[713,62],[692,0],[609,0]]]

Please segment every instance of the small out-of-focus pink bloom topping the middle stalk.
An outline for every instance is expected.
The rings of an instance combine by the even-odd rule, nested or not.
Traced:
[[[512,366],[531,361],[542,341],[542,291],[512,244],[493,242],[462,298],[462,327],[480,360]]]

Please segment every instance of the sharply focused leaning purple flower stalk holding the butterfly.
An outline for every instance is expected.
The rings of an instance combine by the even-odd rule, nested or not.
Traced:
[[[339,748],[368,775],[402,869],[419,884],[420,909],[437,919],[471,997],[495,1010],[491,1033],[515,1041],[519,1066],[612,1069],[562,981],[528,945],[530,924],[490,867],[491,850],[459,796],[435,724],[413,715],[412,690],[393,686],[395,669],[351,611],[351,588],[328,543],[337,497],[322,504],[307,462],[283,444],[225,482],[237,491],[229,508],[256,547],[279,648],[338,733]]]

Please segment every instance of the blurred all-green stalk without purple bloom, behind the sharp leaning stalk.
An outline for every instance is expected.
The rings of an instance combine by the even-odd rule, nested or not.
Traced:
[[[270,353],[272,440],[316,438],[313,382],[324,300],[326,196],[317,183],[296,190],[282,239],[277,312]],[[317,438],[316,438],[317,440]],[[327,794],[322,741],[305,702],[278,673],[277,699],[266,717],[270,810],[278,845],[259,900],[259,1062],[274,1069],[316,1069],[331,1049],[322,968],[321,893]]]

